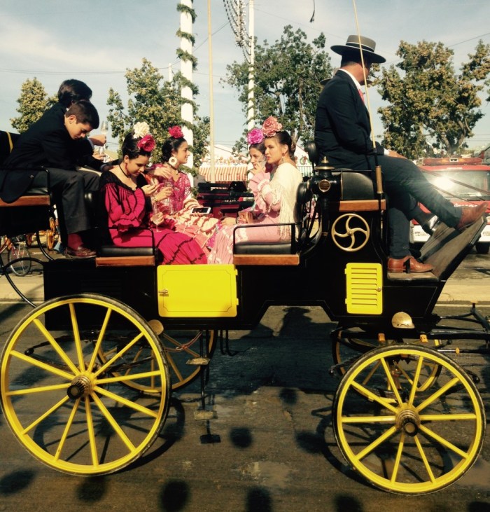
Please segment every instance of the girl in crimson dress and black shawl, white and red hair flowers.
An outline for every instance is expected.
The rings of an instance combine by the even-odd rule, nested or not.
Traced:
[[[99,226],[108,226],[113,244],[120,247],[157,247],[165,265],[206,263],[195,240],[177,232],[163,214],[151,212],[158,186],[147,184],[143,172],[153,148],[148,125],[134,125],[123,141],[123,158],[100,178]]]

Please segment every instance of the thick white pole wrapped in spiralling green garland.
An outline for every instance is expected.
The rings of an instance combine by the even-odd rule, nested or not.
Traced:
[[[180,0],[181,4],[188,6],[189,8],[193,8],[192,0]],[[181,32],[184,34],[192,34],[193,33],[193,18],[192,16],[186,12],[181,11]],[[189,41],[186,37],[181,37],[181,50],[187,52],[189,55],[193,54],[193,43]],[[192,60],[183,60],[181,59],[181,73],[184,78],[187,78],[188,81],[193,81],[193,62]],[[181,97],[184,100],[181,106],[181,116],[184,121],[189,123],[190,126],[193,125],[194,122],[194,109],[193,104],[193,90],[188,85],[183,85],[181,90]],[[188,100],[188,101],[186,101]],[[191,128],[186,126],[182,127],[183,136],[186,141],[188,141],[189,146],[193,146],[194,144],[194,132]],[[194,155],[191,153],[190,157],[187,161],[188,167],[191,169],[194,167]],[[192,179],[192,176],[190,176]],[[192,181],[191,181],[192,183]]]

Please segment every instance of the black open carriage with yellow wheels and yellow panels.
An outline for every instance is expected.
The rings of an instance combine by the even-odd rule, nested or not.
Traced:
[[[38,192],[1,205],[2,231],[25,230],[18,219],[32,219],[29,208],[48,217],[49,194]],[[386,200],[369,172],[316,165],[296,217],[290,242],[235,244],[232,265],[158,265],[153,249],[118,247],[48,259],[45,302],[1,356],[1,405],[18,441],[59,471],[118,471],[155,441],[172,389],[200,377],[197,417],[209,417],[216,333],[252,328],[270,305],[316,305],[337,322],[332,420],[349,464],[392,492],[461,477],[482,448],[484,406],[472,374],[438,349],[470,339],[488,350],[490,325],[475,305],[461,318],[468,328],[442,325],[433,308],[486,219],[462,233],[440,224],[421,249],[433,271],[392,274]]]

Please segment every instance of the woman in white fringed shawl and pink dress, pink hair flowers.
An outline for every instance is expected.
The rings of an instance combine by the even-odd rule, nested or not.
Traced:
[[[289,226],[274,224],[294,223],[294,208],[297,187],[302,175],[295,167],[292,155],[294,144],[288,134],[282,130],[281,123],[272,116],[262,125],[265,137],[265,157],[267,164],[276,167],[274,177],[269,173],[258,172],[248,183],[253,192],[255,205],[252,211],[239,213],[238,224],[253,224],[252,228],[224,226],[216,235],[214,247],[208,257],[208,263],[233,262],[233,232],[235,242],[279,242],[290,240]],[[260,227],[255,227],[260,226]]]

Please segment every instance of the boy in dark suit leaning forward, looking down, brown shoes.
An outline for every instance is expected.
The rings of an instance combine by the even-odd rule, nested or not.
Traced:
[[[68,233],[65,254],[73,258],[95,255],[83,245],[82,233],[90,228],[84,193],[98,190],[99,175],[79,172],[76,165],[87,158],[87,133],[98,126],[99,115],[90,101],[75,102],[68,110],[57,104],[20,136],[0,173],[0,197],[12,202],[42,179],[39,167],[49,169]]]

